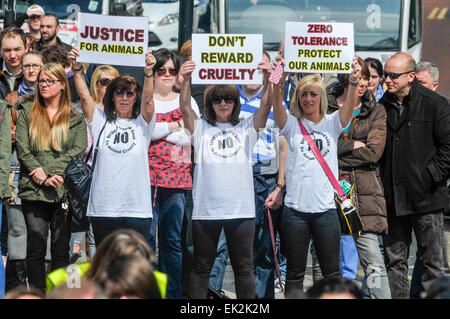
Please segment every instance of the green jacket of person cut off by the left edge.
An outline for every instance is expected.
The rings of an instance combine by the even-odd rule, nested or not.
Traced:
[[[5,100],[0,100],[0,109],[0,198],[6,199],[11,197],[8,183],[11,169],[11,115]]]

